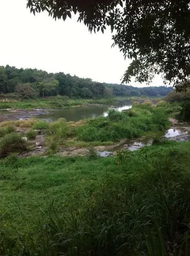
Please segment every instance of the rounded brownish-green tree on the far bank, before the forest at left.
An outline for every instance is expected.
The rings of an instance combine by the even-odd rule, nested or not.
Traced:
[[[38,91],[34,90],[30,83],[22,83],[17,85],[16,92],[20,100],[34,98],[39,95]]]

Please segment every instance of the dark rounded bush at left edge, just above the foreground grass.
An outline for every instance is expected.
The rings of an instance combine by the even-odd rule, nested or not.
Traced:
[[[27,142],[16,133],[7,134],[0,140],[0,156],[8,156],[12,152],[22,152],[27,149]]]

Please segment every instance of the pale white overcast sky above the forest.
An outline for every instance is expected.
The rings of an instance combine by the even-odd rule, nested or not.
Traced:
[[[94,81],[121,83],[130,60],[113,43],[110,29],[92,33],[77,18],[55,21],[48,13],[35,16],[27,0],[0,0],[0,66],[38,68],[70,73]],[[142,87],[132,81],[132,86]],[[163,85],[157,76],[149,86]]]

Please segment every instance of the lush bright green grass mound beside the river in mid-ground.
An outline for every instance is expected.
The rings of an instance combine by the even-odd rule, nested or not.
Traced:
[[[84,126],[75,127],[73,134],[80,141],[104,142],[132,139],[150,132],[164,131],[168,126],[170,122],[164,108],[137,105],[129,111],[111,110],[108,117],[91,119]]]

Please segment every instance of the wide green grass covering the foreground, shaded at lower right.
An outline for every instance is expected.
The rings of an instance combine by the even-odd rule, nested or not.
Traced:
[[[188,255],[189,150],[2,160],[0,255]]]

